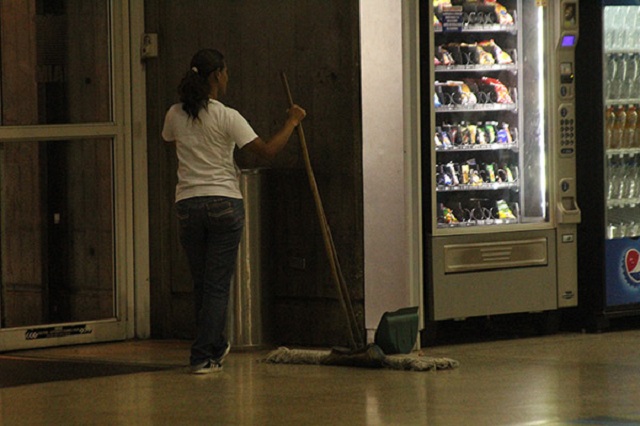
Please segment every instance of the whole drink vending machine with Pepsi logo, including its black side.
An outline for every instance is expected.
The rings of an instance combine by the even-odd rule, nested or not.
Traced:
[[[580,311],[640,315],[640,0],[584,2],[578,52]]]

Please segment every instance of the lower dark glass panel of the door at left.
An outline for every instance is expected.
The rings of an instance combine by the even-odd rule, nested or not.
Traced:
[[[115,317],[112,145],[0,144],[3,328]]]

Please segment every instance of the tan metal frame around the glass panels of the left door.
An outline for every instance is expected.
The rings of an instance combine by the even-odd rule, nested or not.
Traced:
[[[0,142],[113,140],[115,318],[0,329],[0,352],[150,335],[144,1],[111,0],[110,24],[112,122],[0,126]]]

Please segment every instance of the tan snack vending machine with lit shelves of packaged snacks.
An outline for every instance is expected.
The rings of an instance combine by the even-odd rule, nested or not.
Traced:
[[[420,8],[425,318],[578,303],[577,0]]]

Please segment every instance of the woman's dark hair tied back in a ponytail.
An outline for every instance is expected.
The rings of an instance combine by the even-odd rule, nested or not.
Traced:
[[[211,92],[209,75],[224,67],[224,56],[215,49],[199,50],[191,58],[190,69],[178,85],[178,94],[182,109],[192,119],[196,120],[200,110],[206,108],[209,102],[209,92]]]

